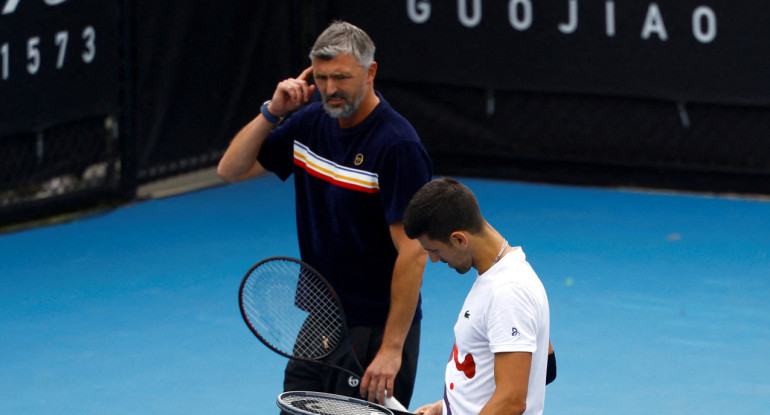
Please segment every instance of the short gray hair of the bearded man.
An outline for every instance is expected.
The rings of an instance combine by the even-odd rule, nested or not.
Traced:
[[[374,42],[363,30],[347,22],[332,22],[316,39],[310,50],[310,60],[329,60],[340,53],[352,55],[368,69],[374,62]]]

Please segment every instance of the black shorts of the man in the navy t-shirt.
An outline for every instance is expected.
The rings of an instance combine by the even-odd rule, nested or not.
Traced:
[[[383,327],[357,326],[348,332],[356,357],[366,368],[376,356],[382,344]],[[339,347],[324,359],[328,363],[357,373],[355,362],[345,355],[346,348]],[[401,369],[393,385],[393,394],[404,406],[409,406],[417,375],[417,356],[420,352],[420,322],[412,324],[404,342]],[[316,391],[335,393],[361,399],[359,382],[349,373],[312,362],[290,359],[283,381],[284,391]]]

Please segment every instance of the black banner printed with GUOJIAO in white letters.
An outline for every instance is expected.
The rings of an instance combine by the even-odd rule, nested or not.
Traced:
[[[762,0],[338,0],[378,77],[518,91],[770,104]]]

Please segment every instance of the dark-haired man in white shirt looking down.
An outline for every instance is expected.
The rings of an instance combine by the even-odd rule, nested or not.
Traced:
[[[438,414],[542,414],[555,377],[548,297],[520,247],[481,215],[473,192],[442,178],[423,186],[404,214],[407,236],[432,262],[478,274],[454,327],[444,399],[417,409]],[[553,376],[546,373],[549,358]]]

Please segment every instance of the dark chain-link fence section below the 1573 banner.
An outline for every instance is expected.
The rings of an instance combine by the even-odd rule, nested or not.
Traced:
[[[0,224],[114,197],[118,139],[114,115],[0,138]]]

